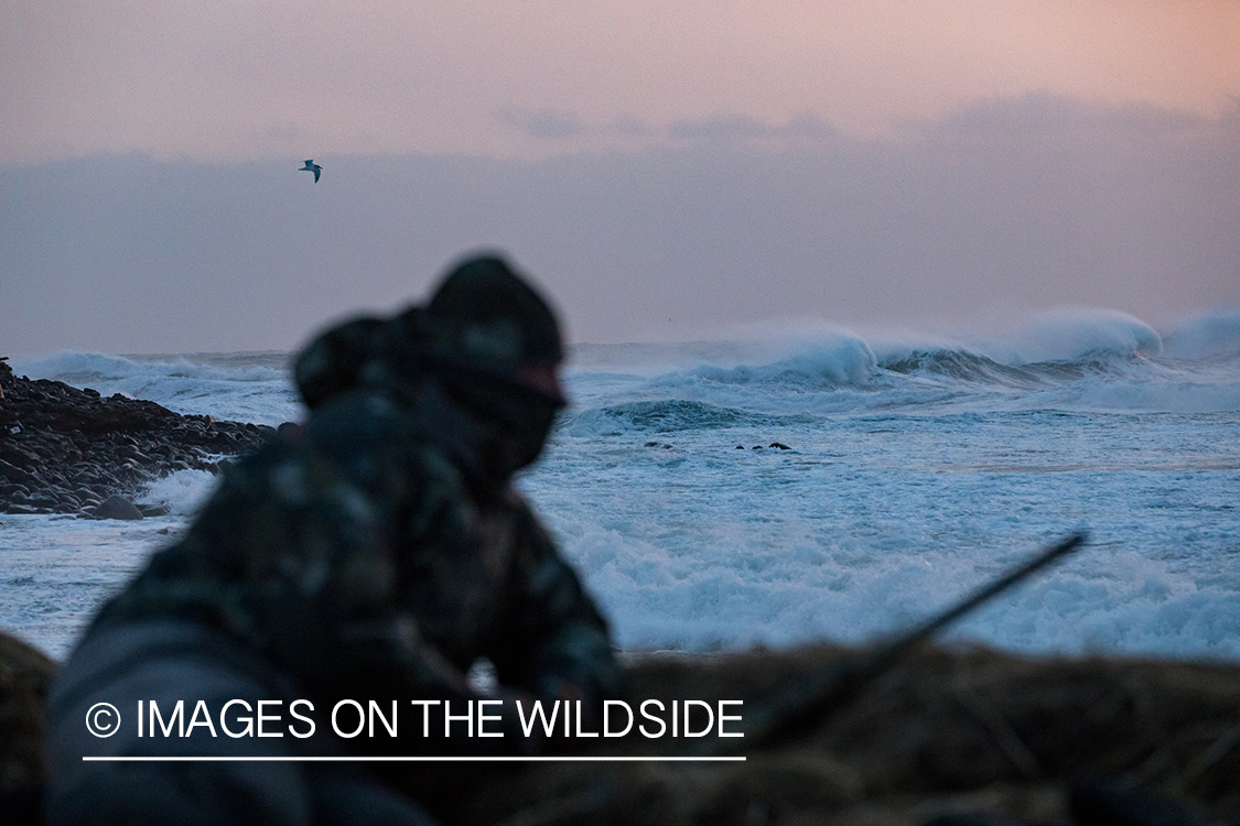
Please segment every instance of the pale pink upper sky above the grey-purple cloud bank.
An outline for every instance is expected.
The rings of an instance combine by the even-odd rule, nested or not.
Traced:
[[[1218,115],[1235,0],[0,4],[0,163],[542,156],[677,121],[889,133],[1049,92]]]

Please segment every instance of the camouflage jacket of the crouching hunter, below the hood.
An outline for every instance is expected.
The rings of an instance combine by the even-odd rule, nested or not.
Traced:
[[[471,482],[445,426],[379,393],[332,398],[229,468],[97,622],[191,618],[327,695],[470,696],[482,656],[536,696],[614,695],[577,575],[511,487]]]

